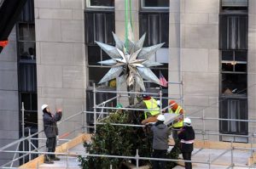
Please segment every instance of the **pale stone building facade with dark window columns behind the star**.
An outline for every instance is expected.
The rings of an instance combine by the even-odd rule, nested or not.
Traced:
[[[33,8],[33,17],[22,13],[0,57],[1,146],[20,138],[21,102],[36,124],[27,127],[36,131],[43,127],[42,104],[61,107],[63,119],[91,110],[92,84],[109,70],[97,64],[108,55],[95,41],[114,45],[112,31],[125,38],[125,0],[28,2],[24,10]],[[163,64],[153,68],[155,75],[161,71],[170,82],[164,96],[182,104],[186,115],[208,118],[192,119],[197,132],[206,133],[197,138],[252,141],[244,136],[255,131],[253,122],[219,118],[256,119],[255,8],[255,0],[131,0],[134,39],[146,32],[144,46],[165,42],[152,56]],[[116,89],[110,82],[98,87]],[[102,93],[96,101],[109,97]],[[78,125],[67,122],[60,132]]]

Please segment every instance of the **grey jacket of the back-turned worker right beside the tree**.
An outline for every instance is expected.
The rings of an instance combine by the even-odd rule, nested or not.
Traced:
[[[170,129],[163,123],[151,127],[153,136],[153,149],[168,149],[168,136],[171,134]]]

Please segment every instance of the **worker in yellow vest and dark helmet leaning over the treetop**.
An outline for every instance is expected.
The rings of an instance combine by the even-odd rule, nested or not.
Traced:
[[[148,122],[156,122],[157,116],[160,115],[160,108],[158,107],[157,101],[148,94],[143,94],[143,99],[134,106],[131,106],[131,108],[147,109],[144,111],[143,125]]]

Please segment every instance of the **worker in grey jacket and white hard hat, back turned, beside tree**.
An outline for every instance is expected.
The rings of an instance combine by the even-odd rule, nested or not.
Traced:
[[[165,116],[158,115],[157,121],[151,127],[153,132],[153,158],[166,158],[168,149],[168,136],[171,134],[170,129],[164,124]],[[153,169],[165,169],[166,161],[153,161]]]

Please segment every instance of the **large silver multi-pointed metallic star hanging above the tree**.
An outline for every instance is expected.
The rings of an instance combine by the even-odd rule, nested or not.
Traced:
[[[121,82],[126,82],[129,87],[137,84],[143,91],[146,90],[143,79],[160,85],[160,80],[149,67],[161,64],[148,59],[150,59],[164,43],[143,48],[145,40],[144,34],[137,42],[131,42],[129,40],[128,47],[125,48],[125,42],[122,42],[114,33],[113,38],[116,43],[115,47],[102,42],[96,42],[102,50],[111,57],[111,59],[98,62],[102,65],[111,66],[111,69],[102,77],[99,84],[108,82],[113,78],[121,77],[125,79],[125,81]]]

